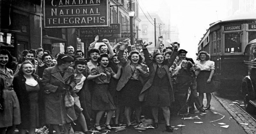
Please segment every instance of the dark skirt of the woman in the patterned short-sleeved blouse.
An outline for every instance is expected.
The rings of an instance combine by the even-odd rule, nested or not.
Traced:
[[[92,110],[114,110],[116,106],[108,91],[108,84],[95,84],[92,93]]]

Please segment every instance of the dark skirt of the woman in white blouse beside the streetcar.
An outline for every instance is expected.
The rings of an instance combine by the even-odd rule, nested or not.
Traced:
[[[211,74],[211,71],[200,71],[200,73],[196,77],[197,92],[212,93],[216,91],[216,88],[213,82],[213,77],[212,77],[211,83],[206,83],[210,74]]]

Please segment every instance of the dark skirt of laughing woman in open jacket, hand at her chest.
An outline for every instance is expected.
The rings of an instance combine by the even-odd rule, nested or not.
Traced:
[[[139,94],[143,86],[140,81],[130,79],[120,91],[122,106],[140,107]]]

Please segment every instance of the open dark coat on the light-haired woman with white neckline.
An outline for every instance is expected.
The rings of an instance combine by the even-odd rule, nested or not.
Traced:
[[[44,124],[44,91],[41,86],[40,78],[37,75],[33,75],[34,79],[39,84],[40,90],[38,91],[38,108],[39,108],[39,123]],[[23,75],[18,75],[13,79],[13,89],[17,94],[20,102],[20,114],[21,114],[21,124],[24,126],[29,126],[30,124],[30,114],[29,114],[29,99],[28,92],[26,90],[26,78]],[[40,127],[40,126],[37,126]]]

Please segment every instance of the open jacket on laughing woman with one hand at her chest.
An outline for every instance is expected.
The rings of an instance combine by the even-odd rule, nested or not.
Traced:
[[[134,69],[130,66],[131,60],[124,58],[124,51],[123,50],[118,51],[118,60],[120,60],[121,65],[123,66],[123,72],[122,72],[121,78],[119,79],[119,81],[117,83],[116,90],[121,91],[122,88],[125,86],[125,84],[132,77]],[[141,84],[144,85],[145,79],[149,76],[148,71],[146,71],[146,70],[148,70],[147,69],[148,66],[145,65],[145,64],[140,64],[140,65],[142,66],[142,68],[141,68],[142,72],[140,73],[138,79],[140,80]]]

